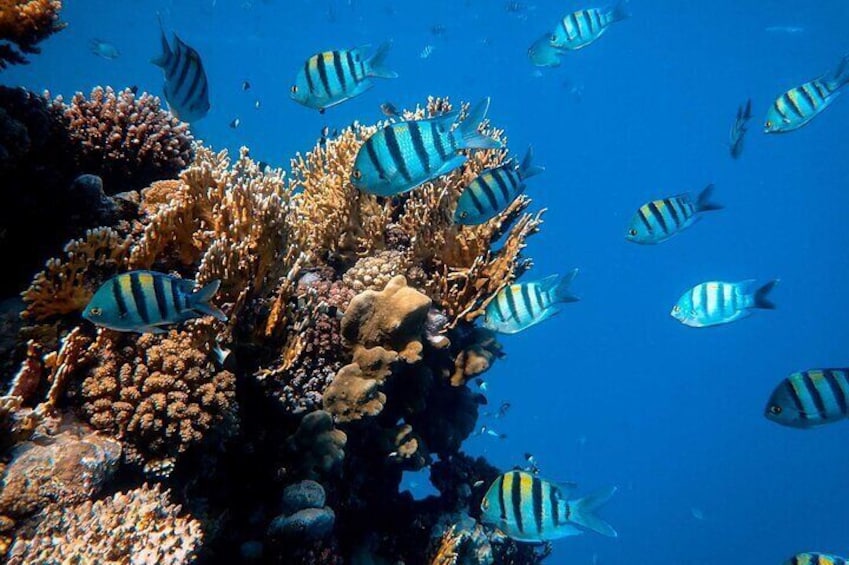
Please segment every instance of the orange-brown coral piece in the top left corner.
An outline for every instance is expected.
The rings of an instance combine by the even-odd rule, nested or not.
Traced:
[[[0,69],[26,63],[23,53],[67,24],[59,21],[61,0],[0,0]]]

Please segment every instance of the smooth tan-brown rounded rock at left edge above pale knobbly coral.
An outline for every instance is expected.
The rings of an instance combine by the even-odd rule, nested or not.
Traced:
[[[97,492],[117,468],[121,444],[85,427],[12,452],[0,491],[0,514],[20,518],[48,503],[68,506]]]

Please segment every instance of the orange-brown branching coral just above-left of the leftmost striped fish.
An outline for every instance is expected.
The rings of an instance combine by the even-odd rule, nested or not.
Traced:
[[[65,245],[65,256],[53,258],[24,291],[24,318],[42,321],[51,316],[82,312],[97,287],[126,265],[130,239],[111,228],[88,230],[85,237]]]

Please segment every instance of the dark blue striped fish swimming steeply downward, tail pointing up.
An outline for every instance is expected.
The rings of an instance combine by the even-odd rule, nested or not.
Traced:
[[[176,47],[168,44],[159,21],[162,54],[151,61],[165,73],[165,100],[177,119],[195,122],[209,112],[209,84],[198,52],[174,34]]]

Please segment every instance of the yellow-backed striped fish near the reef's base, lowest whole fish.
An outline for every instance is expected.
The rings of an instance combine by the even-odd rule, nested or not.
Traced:
[[[616,487],[568,500],[574,488],[573,484],[556,485],[525,471],[504,473],[481,500],[481,521],[516,541],[532,543],[580,535],[581,528],[616,537],[616,530],[595,514]]]

